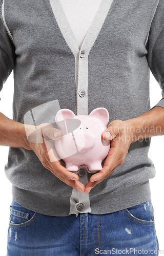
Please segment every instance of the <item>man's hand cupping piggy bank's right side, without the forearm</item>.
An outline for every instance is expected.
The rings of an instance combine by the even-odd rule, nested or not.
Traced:
[[[112,121],[102,136],[105,140],[111,141],[111,147],[104,162],[103,169],[92,175],[90,181],[86,184],[86,193],[89,193],[91,188],[107,178],[119,165],[124,163],[129,146],[133,142],[133,133],[129,131],[128,121]]]

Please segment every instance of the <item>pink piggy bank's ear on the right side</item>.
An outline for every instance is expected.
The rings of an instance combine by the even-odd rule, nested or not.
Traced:
[[[97,108],[92,110],[92,112],[89,114],[90,117],[97,118],[99,121],[101,121],[105,126],[107,126],[109,122],[109,113],[106,108]]]

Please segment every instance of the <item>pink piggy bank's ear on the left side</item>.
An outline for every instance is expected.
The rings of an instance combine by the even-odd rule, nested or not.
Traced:
[[[55,122],[63,135],[73,132],[80,125],[80,120],[69,109],[61,109],[56,113]]]

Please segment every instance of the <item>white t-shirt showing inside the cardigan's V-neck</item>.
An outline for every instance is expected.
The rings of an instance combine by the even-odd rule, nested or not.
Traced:
[[[81,47],[101,0],[60,0],[73,34]]]

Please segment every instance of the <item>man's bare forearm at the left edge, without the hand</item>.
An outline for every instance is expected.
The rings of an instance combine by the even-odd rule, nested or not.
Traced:
[[[28,149],[25,125],[7,118],[0,112],[0,145]]]

